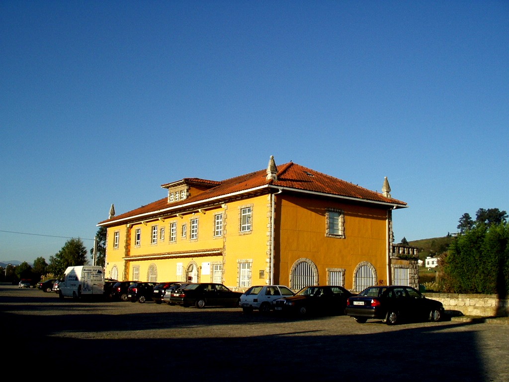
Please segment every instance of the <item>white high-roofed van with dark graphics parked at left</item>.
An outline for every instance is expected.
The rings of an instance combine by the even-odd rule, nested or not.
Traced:
[[[59,284],[60,298],[102,296],[104,294],[104,272],[102,266],[76,265],[65,270]]]

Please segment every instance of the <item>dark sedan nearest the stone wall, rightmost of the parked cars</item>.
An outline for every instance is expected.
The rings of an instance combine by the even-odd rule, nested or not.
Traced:
[[[369,287],[350,297],[346,313],[359,323],[375,318],[393,325],[404,320],[440,321],[444,308],[412,287],[392,285]]]

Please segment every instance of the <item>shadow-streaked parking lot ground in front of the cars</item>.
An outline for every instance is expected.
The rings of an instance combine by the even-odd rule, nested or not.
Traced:
[[[59,380],[509,381],[505,324],[388,326],[347,316],[62,301],[11,285],[0,285],[0,318],[9,366],[38,379],[54,368],[49,375]],[[44,369],[29,367],[39,363]]]

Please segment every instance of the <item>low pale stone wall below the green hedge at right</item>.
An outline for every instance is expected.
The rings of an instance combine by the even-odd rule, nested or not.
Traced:
[[[424,293],[427,298],[440,301],[445,311],[464,316],[509,316],[509,298],[495,294]]]

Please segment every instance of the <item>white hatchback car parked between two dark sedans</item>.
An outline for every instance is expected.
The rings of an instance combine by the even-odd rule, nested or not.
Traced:
[[[239,306],[244,313],[251,313],[254,309],[267,313],[274,309],[274,302],[278,298],[294,294],[284,285],[254,285],[240,296]]]

